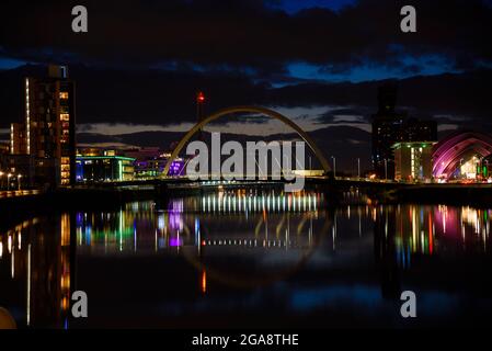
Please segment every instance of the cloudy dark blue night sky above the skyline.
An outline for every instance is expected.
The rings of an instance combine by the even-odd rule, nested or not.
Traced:
[[[88,8],[87,34],[71,31],[75,4]],[[404,4],[416,9],[416,33],[400,31]],[[328,156],[368,162],[386,79],[399,80],[400,110],[436,120],[442,134],[492,132],[491,23],[491,1],[479,0],[2,1],[0,139],[22,115],[20,79],[55,63],[77,81],[80,143],[158,143],[195,122],[203,90],[207,112],[268,106]],[[213,128],[288,131],[267,118]]]

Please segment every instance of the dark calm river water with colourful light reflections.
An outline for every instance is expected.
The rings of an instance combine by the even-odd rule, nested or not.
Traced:
[[[234,191],[32,217],[0,233],[0,306],[20,327],[485,327],[491,215]]]

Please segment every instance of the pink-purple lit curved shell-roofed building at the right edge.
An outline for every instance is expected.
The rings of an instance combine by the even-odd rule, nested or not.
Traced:
[[[479,159],[492,154],[492,136],[476,132],[455,133],[434,146],[434,178],[453,178],[460,163],[473,156]]]

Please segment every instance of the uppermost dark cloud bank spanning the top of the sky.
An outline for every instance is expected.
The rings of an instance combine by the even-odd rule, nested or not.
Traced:
[[[400,32],[407,2],[393,0],[295,14],[250,0],[87,0],[89,33],[76,34],[70,12],[79,3],[3,1],[3,55],[134,67],[173,61],[251,67],[258,76],[283,72],[286,63],[299,60],[333,71],[367,63],[405,67],[409,55],[443,55],[460,69],[492,60],[492,10],[479,0],[412,1],[416,34]]]

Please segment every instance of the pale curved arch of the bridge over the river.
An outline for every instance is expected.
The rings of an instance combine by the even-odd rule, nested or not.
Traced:
[[[193,126],[193,128],[191,128],[183,136],[183,138],[180,140],[180,143],[176,145],[176,147],[172,151],[170,159],[165,163],[165,168],[164,168],[164,171],[163,171],[162,174],[164,177],[168,176],[169,168],[170,168],[172,161],[180,155],[180,152],[183,149],[183,147],[186,145],[186,143],[192,138],[192,136],[196,132],[198,132],[205,125],[207,125],[208,123],[210,123],[210,122],[213,122],[215,120],[218,120],[218,118],[220,118],[220,117],[222,117],[222,116],[225,116],[227,114],[237,113],[237,112],[261,113],[261,114],[267,115],[268,117],[276,118],[276,120],[283,122],[284,124],[288,125],[294,131],[296,131],[297,134],[299,134],[299,136],[308,144],[309,148],[312,150],[312,152],[314,152],[314,156],[320,161],[321,167],[323,168],[324,172],[328,173],[330,171],[330,165],[328,163],[327,159],[324,158],[323,152],[318,148],[318,146],[314,144],[314,141],[311,139],[311,137],[305,131],[302,131],[296,123],[294,123],[293,121],[290,121],[286,116],[279,114],[278,112],[275,112],[273,110],[265,109],[265,107],[259,107],[259,106],[232,106],[232,107],[227,107],[227,109],[220,110],[220,111],[209,115],[208,117],[204,118],[202,122],[198,122],[197,124],[195,124]]]

